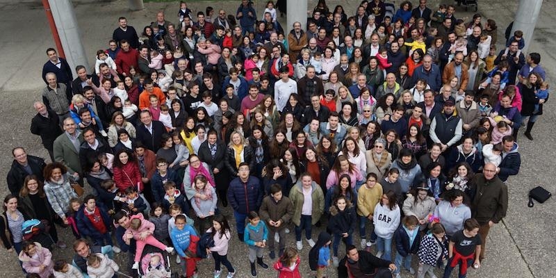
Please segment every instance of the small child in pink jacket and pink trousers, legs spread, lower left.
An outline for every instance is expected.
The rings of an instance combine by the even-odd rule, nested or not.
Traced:
[[[131,224],[129,228],[126,230],[124,236],[125,243],[129,245],[131,238],[136,240],[136,253],[135,253],[135,263],[133,263],[132,269],[139,268],[139,261],[141,260],[141,254],[143,249],[145,249],[145,245],[152,245],[154,247],[158,247],[162,250],[166,250],[166,252],[170,253],[174,251],[173,247],[167,247],[164,243],[158,241],[152,234],[154,234],[154,224],[149,220],[145,220],[142,213],[138,213],[136,215],[131,216],[130,218]]]

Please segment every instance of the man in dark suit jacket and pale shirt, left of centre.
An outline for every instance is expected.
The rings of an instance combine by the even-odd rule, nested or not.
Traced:
[[[166,128],[161,122],[152,120],[151,112],[148,110],[141,111],[139,120],[141,124],[137,126],[137,140],[156,154],[161,147],[162,135],[167,133]]]

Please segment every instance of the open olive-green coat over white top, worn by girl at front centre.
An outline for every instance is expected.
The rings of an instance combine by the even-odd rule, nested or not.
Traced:
[[[322,189],[316,182],[311,183],[311,199],[313,199],[313,210],[311,214],[311,224],[314,225],[318,220],[320,220],[320,216],[325,209],[325,196],[322,194]],[[301,210],[303,207],[304,196],[303,196],[303,189],[301,185],[301,181],[297,181],[295,186],[293,186],[292,190],[290,191],[290,199],[293,203],[293,217],[292,222],[296,226],[301,224]]]

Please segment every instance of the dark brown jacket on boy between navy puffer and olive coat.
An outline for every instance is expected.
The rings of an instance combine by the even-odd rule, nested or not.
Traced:
[[[286,196],[283,196],[276,202],[274,197],[268,195],[263,199],[263,204],[261,204],[261,209],[259,209],[259,215],[261,216],[261,220],[267,223],[270,220],[275,222],[281,220],[280,227],[278,228],[268,224],[270,230],[275,231],[283,229],[293,216],[293,204],[290,198]]]

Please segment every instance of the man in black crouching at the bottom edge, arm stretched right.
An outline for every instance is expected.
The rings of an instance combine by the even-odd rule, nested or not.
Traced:
[[[377,258],[365,250],[357,251],[354,245],[347,245],[347,254],[338,265],[338,278],[366,277],[372,274],[375,278],[390,278],[395,269],[395,264],[391,261]]]

